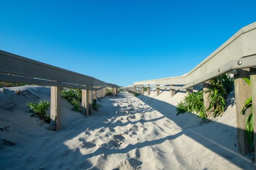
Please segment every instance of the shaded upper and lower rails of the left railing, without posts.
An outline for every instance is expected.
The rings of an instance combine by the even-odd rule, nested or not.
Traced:
[[[9,77],[9,82],[31,84],[39,82],[39,85],[56,85],[71,88],[74,88],[75,85],[75,88],[80,89],[87,89],[84,86],[118,87],[118,85],[105,83],[94,77],[51,66],[6,51],[0,51],[0,59],[0,73],[7,74],[1,74],[0,78],[4,80],[0,79],[0,81],[8,81]],[[35,78],[40,80],[35,80]]]

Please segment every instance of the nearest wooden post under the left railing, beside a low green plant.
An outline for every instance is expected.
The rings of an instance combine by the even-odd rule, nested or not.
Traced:
[[[56,131],[60,129],[60,93],[61,87],[51,86],[50,129]]]

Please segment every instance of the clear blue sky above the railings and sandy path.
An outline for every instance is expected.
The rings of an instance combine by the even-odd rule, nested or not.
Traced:
[[[0,50],[122,86],[182,75],[256,21],[256,0],[19,1],[0,0]]]

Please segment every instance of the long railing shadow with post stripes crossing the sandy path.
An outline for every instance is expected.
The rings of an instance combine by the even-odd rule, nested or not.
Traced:
[[[116,98],[116,97],[114,97]],[[118,95],[118,98],[124,98],[124,96],[122,94]],[[104,100],[111,100],[112,98],[105,98]],[[163,116],[156,118],[156,119],[150,119],[150,120],[144,120],[144,119],[140,119],[137,121],[127,121],[125,123],[118,123],[118,125],[116,123],[111,123],[111,122],[102,122],[102,124],[98,124],[95,127],[88,127],[90,130],[94,130],[94,129],[99,129],[101,127],[109,127],[109,128],[113,128],[116,126],[126,126],[128,124],[136,124],[137,122],[141,122],[141,123],[145,123],[145,122],[149,122],[149,121],[156,121],[159,119],[163,119],[163,118],[168,118],[171,121],[174,121],[180,128],[182,128],[182,131],[175,134],[175,135],[170,135],[170,136],[166,136],[163,138],[159,138],[156,140],[151,140],[151,141],[145,141],[145,142],[141,142],[141,143],[136,143],[136,144],[129,144],[128,146],[126,146],[123,149],[106,149],[105,148],[98,148],[95,152],[90,153],[90,154],[84,154],[84,155],[79,155],[81,156],[81,159],[85,160],[87,158],[96,156],[96,155],[100,155],[104,153],[104,156],[110,155],[110,154],[115,154],[115,153],[128,153],[131,150],[134,150],[136,148],[143,148],[145,146],[152,146],[152,145],[157,145],[160,143],[163,143],[166,140],[173,140],[175,138],[177,138],[178,136],[181,135],[186,135],[190,138],[192,138],[193,140],[197,141],[199,144],[203,145],[204,147],[210,149],[211,151],[217,153],[219,156],[225,158],[226,160],[232,162],[233,164],[237,165],[238,167],[242,168],[242,169],[255,169],[255,164],[254,164],[254,154],[250,153],[246,156],[241,155],[238,152],[237,146],[236,146],[236,141],[234,143],[234,141],[225,141],[224,139],[221,138],[221,136],[219,136],[219,138],[216,138],[217,134],[220,133],[225,133],[227,135],[230,135],[231,133],[236,134],[236,128],[232,127],[232,126],[228,126],[226,124],[222,124],[216,121],[212,121],[212,120],[208,120],[207,124],[205,123],[197,123],[197,125],[195,125],[195,122],[190,123],[190,120],[196,120],[197,122],[200,122],[201,119],[198,118],[197,116],[190,114],[190,113],[185,113],[182,114],[180,116],[176,116],[176,106],[168,103],[168,102],[163,102],[160,101],[158,99],[154,99],[148,96],[138,96],[138,99],[142,102],[144,102],[145,104],[149,105],[152,109],[149,111],[153,111],[153,110],[157,110],[158,112],[160,112]],[[113,102],[114,103],[114,102]],[[234,105],[234,102],[231,102],[232,105]],[[159,105],[161,107],[159,107]],[[118,108],[118,106],[115,107],[114,111],[118,111],[120,108]],[[169,111],[166,111],[169,110]],[[136,111],[136,113],[144,113],[145,110],[140,109],[139,111]],[[112,116],[110,116],[109,118],[111,118]],[[193,126],[194,124],[194,126]],[[213,131],[212,132],[208,132],[208,131],[204,131],[203,126],[207,125],[207,126],[211,126]],[[209,129],[209,128],[208,128]],[[77,132],[77,134],[74,134],[74,137],[79,135],[81,132]],[[214,136],[214,137],[213,137]],[[236,138],[236,136],[235,136]],[[88,163],[88,162],[87,162]],[[87,166],[88,167],[88,164]]]

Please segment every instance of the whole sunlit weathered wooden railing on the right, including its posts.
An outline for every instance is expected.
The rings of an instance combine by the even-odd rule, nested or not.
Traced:
[[[170,89],[172,97],[175,95],[175,89],[186,89],[187,93],[191,93],[193,86],[199,84],[203,84],[203,88],[208,89],[208,80],[225,73],[234,74],[238,149],[244,155],[253,152],[248,145],[245,130],[246,119],[252,110],[247,109],[244,115],[241,115],[240,111],[250,96],[253,98],[253,107],[256,108],[256,22],[240,29],[187,74],[134,82],[134,85],[127,86],[125,89],[143,94],[144,87],[147,87],[148,95],[151,87],[156,87],[157,95],[160,88]],[[245,83],[244,77],[251,78],[251,86]],[[209,94],[204,93],[206,108],[209,101]],[[256,109],[253,109],[253,112],[254,129],[256,129]],[[256,133],[254,133],[254,141],[256,148]]]

